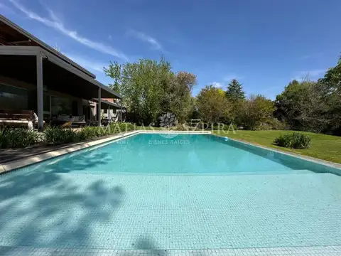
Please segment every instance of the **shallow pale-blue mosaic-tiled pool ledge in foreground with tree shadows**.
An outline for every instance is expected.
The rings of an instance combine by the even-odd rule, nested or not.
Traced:
[[[0,177],[0,252],[8,255],[341,255],[334,174],[16,172]]]

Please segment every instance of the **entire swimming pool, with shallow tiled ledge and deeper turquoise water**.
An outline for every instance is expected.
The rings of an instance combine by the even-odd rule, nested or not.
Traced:
[[[0,176],[0,199],[1,247],[341,245],[340,176],[210,134],[137,134],[28,166]]]

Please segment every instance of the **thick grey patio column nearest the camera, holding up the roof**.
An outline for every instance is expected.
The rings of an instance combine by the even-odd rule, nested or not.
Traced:
[[[38,103],[38,129],[43,130],[44,114],[43,114],[43,56],[37,55],[37,103]]]

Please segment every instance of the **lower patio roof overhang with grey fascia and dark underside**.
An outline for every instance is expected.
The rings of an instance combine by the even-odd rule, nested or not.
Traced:
[[[43,57],[43,85],[50,90],[91,100],[121,98],[117,92],[94,80],[70,63],[38,46],[0,46],[0,75],[36,85],[36,58]]]

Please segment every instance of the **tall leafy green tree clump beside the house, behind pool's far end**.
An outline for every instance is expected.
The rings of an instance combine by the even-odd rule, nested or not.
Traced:
[[[185,122],[193,100],[190,92],[196,76],[188,72],[173,73],[171,63],[141,59],[135,63],[110,63],[104,73],[114,82],[109,85],[122,95],[122,104],[133,114],[134,122],[150,124],[171,112]]]

